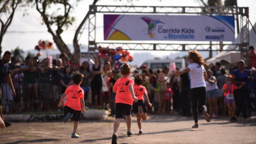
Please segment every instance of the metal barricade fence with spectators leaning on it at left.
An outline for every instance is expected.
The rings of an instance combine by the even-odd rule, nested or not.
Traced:
[[[12,96],[12,90],[4,80],[2,87],[2,106],[9,111],[12,107],[26,107],[25,105],[49,104],[58,102],[61,96],[60,69],[45,70],[42,74],[40,70],[36,72],[22,72],[21,70],[13,74],[12,83],[16,91],[16,97]],[[23,74],[23,75],[22,75]],[[36,96],[35,86],[38,90]],[[30,92],[28,92],[28,87]],[[29,94],[28,94],[29,93]]]

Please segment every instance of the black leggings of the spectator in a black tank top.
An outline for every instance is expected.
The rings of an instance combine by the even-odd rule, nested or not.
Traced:
[[[98,100],[98,106],[101,106],[101,88],[102,88],[102,82],[91,82],[91,88],[92,88],[92,106],[95,106],[95,96],[97,94],[97,100]]]

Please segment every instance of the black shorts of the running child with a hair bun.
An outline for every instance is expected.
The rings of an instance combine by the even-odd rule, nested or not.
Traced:
[[[124,104],[124,103],[116,103],[116,119],[122,118],[123,114],[128,116],[131,115],[132,105]]]

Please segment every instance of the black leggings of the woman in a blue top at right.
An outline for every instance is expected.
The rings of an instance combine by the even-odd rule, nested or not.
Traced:
[[[239,116],[241,111],[243,111],[244,118],[247,118],[246,114],[246,101],[245,98],[248,96],[248,90],[235,90],[234,97],[236,101],[236,116]]]

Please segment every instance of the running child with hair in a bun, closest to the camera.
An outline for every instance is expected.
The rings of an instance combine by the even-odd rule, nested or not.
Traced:
[[[131,75],[131,67],[125,62],[121,66],[121,74],[122,77],[119,78],[113,87],[113,92],[116,93],[116,120],[114,122],[114,133],[112,136],[112,144],[117,144],[117,131],[118,127],[123,119],[123,113],[126,117],[126,125],[127,125],[127,136],[134,136],[131,131],[132,125],[132,103],[137,102],[138,99],[134,95],[133,85],[134,81],[130,79]]]

